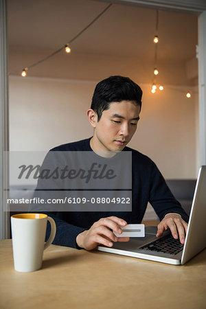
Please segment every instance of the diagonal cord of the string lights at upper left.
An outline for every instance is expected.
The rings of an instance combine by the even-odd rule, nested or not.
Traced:
[[[78,38],[84,31],[86,31],[89,27],[91,27],[91,25],[93,25],[93,23],[95,23],[95,21],[97,21],[100,16],[102,16],[110,7],[111,7],[112,3],[110,3],[109,5],[106,6],[106,8],[100,12],[100,14],[98,14],[98,16],[95,17],[95,19],[93,19],[93,21],[91,21],[91,23],[89,23],[89,25],[87,25],[86,27],[84,27],[83,30],[81,30],[76,36],[74,36],[73,38],[71,38],[71,40],[69,41],[69,44],[71,44],[73,41],[76,40],[76,38]],[[35,67],[36,65],[39,65],[41,62],[53,57],[54,55],[58,54],[62,49],[65,49],[65,44],[60,47],[59,49],[57,49],[55,52],[53,52],[52,54],[49,54],[48,56],[46,56],[45,58],[38,60],[34,63],[32,63],[32,65],[28,65],[27,69],[30,69],[31,67]],[[12,73],[17,73],[18,71],[13,71],[13,72],[9,72],[8,74],[12,74]]]

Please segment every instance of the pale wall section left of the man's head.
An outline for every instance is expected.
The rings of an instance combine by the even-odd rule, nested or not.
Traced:
[[[10,150],[49,150],[93,130],[87,109],[95,82],[10,77]]]

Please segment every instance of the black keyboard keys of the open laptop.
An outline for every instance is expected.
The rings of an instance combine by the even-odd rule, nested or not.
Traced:
[[[174,239],[173,236],[170,234],[164,236],[163,238],[159,238],[154,242],[150,242],[149,244],[146,244],[145,246],[140,247],[139,249],[176,255],[181,250],[183,250],[183,246],[184,244],[181,244],[179,239]]]

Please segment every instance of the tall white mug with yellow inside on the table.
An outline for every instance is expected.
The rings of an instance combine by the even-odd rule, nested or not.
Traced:
[[[47,220],[51,233],[47,242],[45,235]],[[11,216],[14,269],[37,271],[42,266],[43,251],[52,244],[56,235],[56,224],[46,214],[15,214]]]

